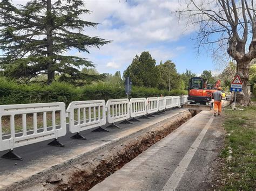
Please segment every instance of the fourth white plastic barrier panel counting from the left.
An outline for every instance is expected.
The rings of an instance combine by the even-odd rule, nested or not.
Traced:
[[[138,117],[147,114],[146,98],[131,98],[130,100],[131,117]]]

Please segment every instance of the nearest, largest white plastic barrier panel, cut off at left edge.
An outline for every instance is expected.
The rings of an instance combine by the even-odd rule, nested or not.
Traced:
[[[65,136],[65,113],[63,102],[0,105],[0,151]],[[8,126],[2,123],[6,118],[10,119]],[[59,124],[56,124],[57,121]],[[4,132],[8,135],[5,136]]]

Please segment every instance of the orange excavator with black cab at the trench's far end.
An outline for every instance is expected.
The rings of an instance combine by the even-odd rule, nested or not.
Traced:
[[[188,103],[183,105],[184,109],[211,110],[213,107],[212,93],[217,91],[220,80],[215,82],[214,87],[207,84],[203,77],[191,77],[188,82]]]

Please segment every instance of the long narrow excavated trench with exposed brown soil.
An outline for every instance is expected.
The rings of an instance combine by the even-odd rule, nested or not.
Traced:
[[[161,123],[139,135],[133,135],[77,164],[66,165],[65,169],[56,169],[38,178],[38,181],[30,181],[22,186],[13,185],[9,190],[89,190],[196,114],[196,111],[183,112],[171,122]]]

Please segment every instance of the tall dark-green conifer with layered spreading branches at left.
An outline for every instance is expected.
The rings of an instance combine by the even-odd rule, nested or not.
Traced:
[[[93,67],[92,62],[75,55],[64,55],[71,49],[89,52],[110,41],[83,34],[84,27],[98,23],[82,20],[83,0],[33,0],[19,7],[10,0],[0,3],[0,66],[5,76],[29,81],[40,74],[48,76],[48,84],[60,75],[59,81],[76,82],[93,77],[81,73],[79,67]]]

